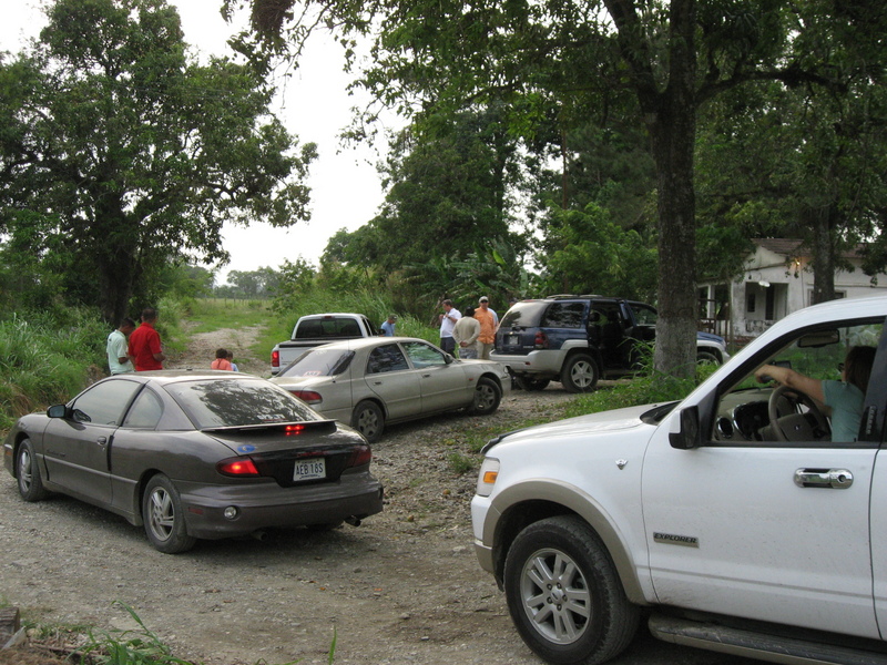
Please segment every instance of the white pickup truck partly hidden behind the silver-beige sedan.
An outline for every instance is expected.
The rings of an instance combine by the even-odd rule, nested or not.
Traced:
[[[340,339],[375,337],[379,334],[363,314],[310,314],[303,316],[293,327],[293,335],[277,344],[271,351],[271,374],[277,374],[302,355],[318,346]]]

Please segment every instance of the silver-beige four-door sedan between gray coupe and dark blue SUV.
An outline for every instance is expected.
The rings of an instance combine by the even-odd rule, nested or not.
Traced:
[[[492,413],[511,389],[508,367],[457,360],[412,337],[374,337],[324,345],[272,379],[310,407],[349,423],[370,442],[387,422],[468,409]]]

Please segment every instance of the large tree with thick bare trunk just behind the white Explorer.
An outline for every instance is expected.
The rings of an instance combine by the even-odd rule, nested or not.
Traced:
[[[656,167],[659,306],[655,365],[690,372],[696,326],[694,145],[700,109],[754,80],[829,85],[833,39],[847,10],[830,0],[226,0],[249,4],[261,45],[295,44],[315,25],[350,45],[373,38],[360,84],[420,114],[489,99],[532,134],[555,113],[565,129],[590,109],[632,98]],[[880,3],[858,0],[865,18]],[[295,10],[294,10],[295,8]],[[816,24],[812,50],[802,39]],[[819,29],[822,28],[822,29]],[[246,40],[242,42],[246,45]],[[796,48],[799,47],[799,48]],[[266,49],[267,50],[267,49]]]

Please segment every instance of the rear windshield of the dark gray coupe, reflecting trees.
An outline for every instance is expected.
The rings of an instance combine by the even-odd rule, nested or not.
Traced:
[[[165,389],[197,429],[320,420],[306,405],[264,379],[186,381]]]

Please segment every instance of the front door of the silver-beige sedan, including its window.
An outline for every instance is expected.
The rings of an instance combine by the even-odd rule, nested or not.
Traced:
[[[424,413],[463,407],[471,401],[475,383],[469,383],[460,364],[447,364],[442,351],[428,344],[408,341],[401,346],[419,377]]]

